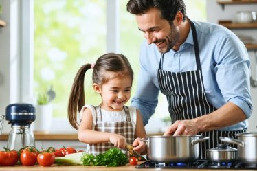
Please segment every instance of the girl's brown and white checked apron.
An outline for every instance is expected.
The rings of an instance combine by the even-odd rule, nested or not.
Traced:
[[[95,107],[95,110],[96,110],[96,126],[95,126],[96,131],[122,135],[126,138],[127,143],[133,144],[134,133],[132,128],[131,115],[129,115],[129,108],[127,106],[124,106],[126,121],[123,121],[123,122],[102,122],[102,111],[100,109],[100,106]],[[97,112],[97,111],[100,111],[100,112]],[[109,150],[109,148],[113,148],[113,147],[114,146],[113,144],[111,144],[111,142],[87,144],[86,152],[93,155],[98,155],[100,153],[103,153]]]

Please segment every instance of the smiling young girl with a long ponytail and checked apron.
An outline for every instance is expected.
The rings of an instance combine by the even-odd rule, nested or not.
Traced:
[[[84,77],[93,69],[93,89],[101,95],[99,106],[85,104]],[[124,106],[131,98],[133,71],[122,54],[104,54],[95,65],[83,65],[71,88],[68,115],[78,129],[78,139],[87,144],[86,152],[98,155],[113,146],[125,148],[137,137],[146,137],[142,117],[134,107]],[[80,124],[77,122],[80,111]],[[134,150],[144,154],[144,142],[135,140]]]

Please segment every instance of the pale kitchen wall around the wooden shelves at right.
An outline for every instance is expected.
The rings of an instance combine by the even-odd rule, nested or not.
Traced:
[[[207,21],[211,23],[218,23],[219,20],[232,20],[234,21],[236,12],[238,11],[257,11],[257,4],[237,4],[237,5],[225,5],[224,10],[221,5],[216,3],[216,0],[207,0]],[[245,35],[252,36],[257,43],[257,30],[232,30],[236,35]],[[257,50],[255,52],[249,52],[250,60],[251,60],[251,72],[252,76],[256,78],[256,60],[254,56],[257,56]],[[257,87],[251,87],[251,95],[252,102],[254,106],[254,110],[252,113],[252,117],[248,119],[249,121],[249,131],[257,132]]]

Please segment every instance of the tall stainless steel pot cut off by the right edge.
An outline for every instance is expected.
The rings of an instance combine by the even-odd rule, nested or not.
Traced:
[[[239,133],[238,139],[220,137],[223,142],[237,144],[238,159],[243,163],[257,163],[257,133]]]

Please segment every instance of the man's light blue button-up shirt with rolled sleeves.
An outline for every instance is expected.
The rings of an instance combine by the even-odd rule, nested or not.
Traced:
[[[193,22],[197,30],[203,85],[208,101],[217,109],[227,102],[232,102],[249,118],[252,114],[250,62],[245,45],[233,32],[221,25]],[[163,69],[171,72],[197,70],[194,55],[190,30],[188,38],[177,52],[171,49],[165,54]],[[141,69],[137,92],[131,105],[139,109],[145,125],[158,103],[157,69],[160,57],[156,45],[148,45],[144,41],[139,56]],[[221,130],[241,130],[246,127],[247,123],[244,121]]]

